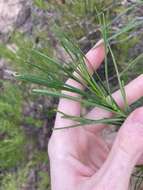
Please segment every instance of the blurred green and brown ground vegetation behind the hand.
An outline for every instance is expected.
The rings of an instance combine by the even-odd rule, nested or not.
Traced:
[[[7,9],[12,2],[8,3]],[[143,18],[142,5],[126,12],[133,4],[134,1],[116,0],[24,1],[10,30],[0,33],[0,189],[50,190],[47,144],[54,125],[53,110],[58,103],[58,99],[33,95],[33,85],[14,79],[15,72],[29,72],[32,67],[15,60],[3,45],[11,51],[20,48],[23,60],[28,58],[27,48],[32,47],[60,60],[68,59],[52,31],[55,23],[74,36],[86,53],[101,38],[97,10],[105,13],[107,22],[124,13],[113,23],[114,33],[133,18]],[[120,70],[143,52],[142,31],[139,27],[112,42]],[[111,84],[116,89],[112,64],[110,72]],[[142,72],[141,59],[124,80],[127,82]],[[99,73],[104,79],[103,68]]]

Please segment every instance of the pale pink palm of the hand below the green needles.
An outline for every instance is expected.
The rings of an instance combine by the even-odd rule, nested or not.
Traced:
[[[93,118],[93,114],[96,114],[97,118],[109,115],[96,108],[87,114],[87,117]],[[74,124],[72,121],[65,121],[59,114],[56,123],[65,127],[68,123]],[[92,176],[100,169],[110,150],[109,145],[102,138],[102,129],[105,127],[104,125],[85,126],[53,133],[50,141],[52,147],[49,152],[52,158],[58,158],[57,163],[54,164],[56,168],[53,168],[59,180],[56,184],[57,189],[60,189],[60,185],[62,190],[78,189],[78,186],[79,189],[84,189],[85,183],[90,189]],[[54,144],[56,151],[53,150]]]

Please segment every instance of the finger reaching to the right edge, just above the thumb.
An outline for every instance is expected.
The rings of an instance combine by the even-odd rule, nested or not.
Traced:
[[[143,75],[140,75],[136,79],[132,80],[129,84],[125,86],[125,92],[126,92],[126,98],[127,98],[127,103],[128,105],[131,105],[138,99],[140,99],[143,96]],[[121,94],[121,91],[118,90],[115,93],[112,94],[113,98],[117,102],[117,104],[123,108],[124,107],[124,101],[123,97]],[[111,117],[111,113],[99,109],[99,108],[94,108],[92,109],[86,116],[87,118],[91,119],[102,119],[102,118],[108,118]],[[90,130],[92,132],[97,132],[97,130],[103,129],[105,126],[100,125],[100,126],[88,126],[86,129]]]

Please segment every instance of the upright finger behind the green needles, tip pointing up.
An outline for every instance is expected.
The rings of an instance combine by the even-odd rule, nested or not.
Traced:
[[[104,60],[104,57],[105,57],[105,48],[104,48],[103,41],[99,41],[99,43],[97,45],[98,46],[96,48],[92,48],[86,54],[86,58],[87,58],[86,64],[87,64],[87,68],[89,69],[90,73],[93,73],[94,70],[96,70],[100,66],[100,64],[102,63],[102,61]],[[74,74],[76,74],[76,73],[74,73]],[[76,88],[83,89],[81,84],[79,84],[78,82],[76,82],[72,79],[68,79],[66,83],[71,86],[74,86]],[[64,94],[68,93],[68,95],[70,95],[70,96],[77,96],[77,94],[75,94],[75,93],[69,93],[69,92],[63,92],[63,93]],[[68,115],[78,116],[78,115],[80,115],[80,104],[78,102],[75,102],[72,100],[61,99],[59,102],[58,110],[66,113]],[[71,122],[72,121],[63,119],[62,123],[61,123],[61,115],[57,114],[55,126],[56,127],[69,126],[72,124]]]

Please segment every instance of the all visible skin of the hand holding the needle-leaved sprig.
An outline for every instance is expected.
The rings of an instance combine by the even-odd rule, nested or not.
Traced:
[[[86,64],[91,73],[98,69],[105,57],[103,41],[86,55]],[[76,74],[76,73],[74,73]],[[68,79],[68,84],[83,87]],[[84,89],[83,89],[84,90]],[[143,75],[125,87],[128,104],[143,95]],[[67,92],[63,92],[67,93]],[[77,94],[69,93],[72,96]],[[120,91],[113,93],[117,104],[124,108]],[[61,99],[58,110],[68,115],[80,115],[78,102]],[[111,117],[111,113],[94,108],[87,118]],[[55,128],[74,125],[71,120],[57,114]],[[48,153],[51,168],[52,190],[127,190],[134,166],[142,163],[143,153],[143,107],[132,112],[111,141],[103,138],[106,125],[91,125],[53,132]],[[111,145],[112,144],[112,145]]]

